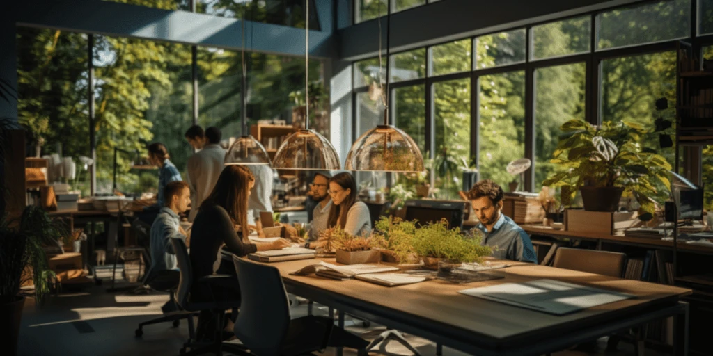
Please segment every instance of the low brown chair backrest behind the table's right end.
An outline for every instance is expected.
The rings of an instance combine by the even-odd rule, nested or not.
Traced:
[[[621,278],[625,261],[624,253],[560,247],[553,267]]]

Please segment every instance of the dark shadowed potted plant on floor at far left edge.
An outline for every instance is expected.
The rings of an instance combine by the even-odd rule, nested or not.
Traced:
[[[0,323],[9,326],[9,332],[0,333],[0,344],[6,355],[17,352],[25,301],[20,288],[31,278],[35,299],[43,303],[55,278],[43,246],[57,244],[64,235],[39,206],[27,206],[19,219],[0,216]]]

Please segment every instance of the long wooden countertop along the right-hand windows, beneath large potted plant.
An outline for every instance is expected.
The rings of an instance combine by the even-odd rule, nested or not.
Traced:
[[[549,236],[554,239],[581,239],[595,241],[597,243],[611,242],[615,244],[640,246],[645,248],[673,250],[673,241],[664,241],[659,238],[627,237],[623,235],[593,234],[587,232],[555,230],[542,225],[520,225],[525,232],[530,235]],[[713,254],[713,248],[700,245],[686,244],[685,241],[678,241],[678,251],[689,253]]]

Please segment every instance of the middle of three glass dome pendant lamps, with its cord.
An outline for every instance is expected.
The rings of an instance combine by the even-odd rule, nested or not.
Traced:
[[[324,136],[309,129],[309,1],[304,1],[304,130],[289,135],[275,154],[275,169],[342,169],[334,146]]]

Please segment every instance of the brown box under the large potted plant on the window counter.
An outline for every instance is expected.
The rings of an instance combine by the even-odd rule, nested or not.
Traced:
[[[592,234],[615,235],[639,224],[637,211],[606,212],[565,210],[565,230]]]

